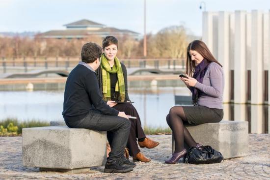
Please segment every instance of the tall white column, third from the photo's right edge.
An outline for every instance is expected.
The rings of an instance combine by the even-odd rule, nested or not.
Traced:
[[[234,103],[246,103],[245,11],[235,11]]]

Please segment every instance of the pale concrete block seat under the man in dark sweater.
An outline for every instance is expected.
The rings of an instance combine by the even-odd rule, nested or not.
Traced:
[[[23,128],[23,165],[80,173],[106,162],[106,131],[47,126]]]

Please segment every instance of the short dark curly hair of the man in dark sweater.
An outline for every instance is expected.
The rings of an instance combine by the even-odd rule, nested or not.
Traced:
[[[101,47],[93,42],[84,44],[81,48],[81,61],[85,63],[92,63],[99,59],[102,54]]]

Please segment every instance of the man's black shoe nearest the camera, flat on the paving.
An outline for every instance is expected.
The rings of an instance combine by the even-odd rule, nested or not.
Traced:
[[[106,162],[104,173],[127,173],[133,171],[133,167],[124,164],[120,160]]]

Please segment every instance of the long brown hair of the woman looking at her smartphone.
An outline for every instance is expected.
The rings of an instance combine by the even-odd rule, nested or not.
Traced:
[[[202,57],[210,62],[216,62],[221,67],[222,65],[214,58],[212,53],[209,51],[208,47],[203,41],[200,40],[194,40],[189,43],[188,49],[187,49],[187,62],[186,62],[186,74],[189,76],[192,76],[192,74],[195,71],[195,61],[191,60],[191,56],[189,55],[189,51],[197,51]]]

